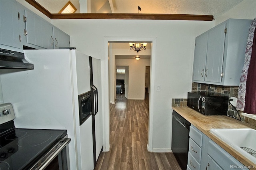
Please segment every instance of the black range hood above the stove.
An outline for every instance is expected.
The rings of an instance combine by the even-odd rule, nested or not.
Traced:
[[[26,61],[24,53],[0,49],[0,69],[34,69],[34,64]]]

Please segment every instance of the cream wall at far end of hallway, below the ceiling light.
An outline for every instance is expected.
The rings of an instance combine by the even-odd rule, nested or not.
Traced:
[[[129,66],[129,99],[145,99],[146,66],[150,66],[150,59],[116,59],[116,65]]]

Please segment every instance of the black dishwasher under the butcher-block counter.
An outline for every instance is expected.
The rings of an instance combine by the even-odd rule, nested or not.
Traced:
[[[182,170],[186,170],[188,164],[190,125],[191,124],[176,111],[172,112],[172,152]]]

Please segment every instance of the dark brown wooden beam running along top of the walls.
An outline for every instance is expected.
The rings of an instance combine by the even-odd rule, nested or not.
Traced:
[[[56,19],[103,19],[103,20],[194,20],[212,21],[212,15],[189,14],[99,14],[99,13],[75,13],[75,14],[51,14],[35,0],[25,0],[48,18]]]

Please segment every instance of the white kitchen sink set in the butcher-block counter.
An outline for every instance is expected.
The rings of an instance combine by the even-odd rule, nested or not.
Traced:
[[[256,130],[252,128],[212,128],[210,132],[256,163]]]

